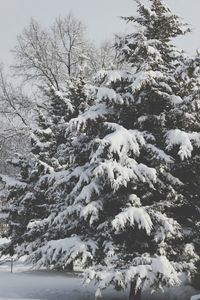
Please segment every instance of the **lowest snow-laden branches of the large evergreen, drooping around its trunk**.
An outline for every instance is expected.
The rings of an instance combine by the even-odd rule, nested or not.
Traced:
[[[157,288],[163,289],[164,286],[175,286],[180,284],[179,274],[175,270],[174,263],[170,262],[166,256],[143,257],[141,263],[130,266],[126,270],[102,270],[87,272],[85,283],[91,280],[98,280],[96,296],[102,296],[102,290],[109,285],[125,289],[131,282],[135,282],[135,291],[141,288],[149,288],[158,284]]]

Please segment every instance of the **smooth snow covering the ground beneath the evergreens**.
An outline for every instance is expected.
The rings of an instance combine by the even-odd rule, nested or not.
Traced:
[[[23,262],[0,265],[0,300],[94,300],[96,287],[83,287],[78,275],[55,271],[33,271]],[[167,289],[165,294],[144,294],[143,300],[189,300],[199,294],[190,286]],[[128,291],[116,292],[109,289],[103,293],[103,300],[126,300]],[[195,298],[194,298],[195,299]]]

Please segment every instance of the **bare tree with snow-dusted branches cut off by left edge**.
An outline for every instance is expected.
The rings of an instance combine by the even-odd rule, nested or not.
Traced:
[[[22,84],[16,85],[0,68],[0,173],[13,173],[6,160],[15,152],[28,153],[28,128],[34,104]]]

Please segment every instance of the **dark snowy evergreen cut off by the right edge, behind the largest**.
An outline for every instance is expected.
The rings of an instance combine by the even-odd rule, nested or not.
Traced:
[[[185,134],[188,141],[188,155],[186,160],[181,160],[174,165],[173,173],[184,183],[182,193],[187,201],[183,203],[179,211],[179,218],[182,226],[187,228],[188,239],[194,244],[198,255],[199,253],[199,196],[200,196],[200,56],[197,51],[194,57],[185,57],[176,72],[179,81],[179,94],[182,102],[179,110],[174,113],[173,122],[176,120],[180,135]],[[194,284],[199,287],[198,275],[194,278]]]

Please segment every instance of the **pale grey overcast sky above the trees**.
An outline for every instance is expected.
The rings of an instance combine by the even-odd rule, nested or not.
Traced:
[[[178,41],[189,52],[200,48],[200,0],[166,0],[171,9],[183,17],[193,33]],[[121,15],[134,15],[133,0],[0,0],[0,61],[10,64],[10,49],[16,36],[28,25],[31,17],[44,26],[55,17],[72,12],[87,26],[88,36],[100,43],[113,33],[124,32]]]

